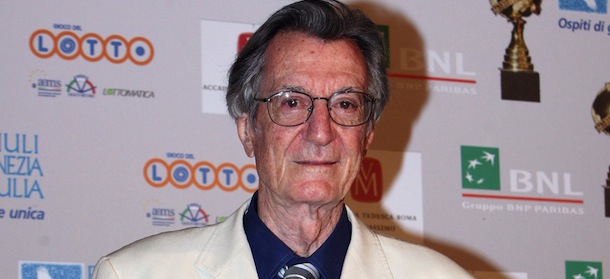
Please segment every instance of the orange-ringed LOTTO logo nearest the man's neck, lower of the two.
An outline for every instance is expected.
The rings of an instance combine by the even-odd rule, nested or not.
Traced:
[[[194,159],[192,154],[167,153],[167,156],[170,159]],[[144,179],[155,188],[171,184],[178,189],[187,189],[194,185],[204,191],[218,187],[226,192],[241,189],[248,193],[254,193],[258,188],[258,174],[254,164],[239,167],[229,162],[215,165],[207,161],[153,158],[144,164]]]

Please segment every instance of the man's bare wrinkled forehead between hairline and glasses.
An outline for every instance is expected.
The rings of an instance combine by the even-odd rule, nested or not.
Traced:
[[[265,53],[264,91],[364,91],[366,63],[350,40],[325,41],[300,32],[276,35]]]

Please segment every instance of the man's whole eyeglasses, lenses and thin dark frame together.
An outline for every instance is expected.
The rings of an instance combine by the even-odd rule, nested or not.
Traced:
[[[292,127],[301,125],[313,112],[313,102],[326,100],[333,122],[341,126],[359,126],[366,123],[375,109],[375,98],[363,92],[341,91],[330,97],[311,97],[297,91],[280,91],[268,98],[254,98],[267,103],[267,112],[273,123]]]

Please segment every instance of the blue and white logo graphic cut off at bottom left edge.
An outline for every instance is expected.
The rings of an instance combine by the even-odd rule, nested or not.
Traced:
[[[20,262],[20,279],[83,279],[83,264]]]

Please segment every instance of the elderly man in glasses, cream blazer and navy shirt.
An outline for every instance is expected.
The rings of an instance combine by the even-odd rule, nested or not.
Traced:
[[[227,102],[259,190],[225,222],[100,259],[94,278],[472,278],[369,230],[343,203],[388,100],[375,25],[331,0],[288,5],[237,57]]]

